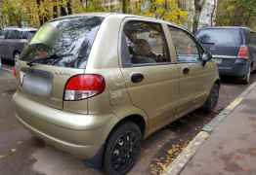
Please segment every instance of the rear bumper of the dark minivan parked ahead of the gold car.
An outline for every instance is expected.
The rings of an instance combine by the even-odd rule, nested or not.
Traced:
[[[233,76],[237,78],[243,78],[246,76],[248,68],[250,66],[248,60],[239,60],[236,62],[237,59],[231,60],[233,61],[232,64],[225,64],[222,63],[218,65],[219,73],[221,76]],[[227,62],[227,61],[226,61]]]

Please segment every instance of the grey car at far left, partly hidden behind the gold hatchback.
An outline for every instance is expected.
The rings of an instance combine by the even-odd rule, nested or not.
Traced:
[[[35,28],[7,27],[0,37],[0,59],[16,60],[28,41],[35,34]]]

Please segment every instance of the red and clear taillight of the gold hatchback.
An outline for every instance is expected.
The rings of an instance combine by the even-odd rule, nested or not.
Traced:
[[[71,77],[64,88],[64,100],[75,101],[90,98],[105,90],[105,79],[101,75],[84,74]]]

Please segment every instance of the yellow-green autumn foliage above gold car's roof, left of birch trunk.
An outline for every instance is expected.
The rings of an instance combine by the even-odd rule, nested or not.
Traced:
[[[183,24],[188,20],[188,12],[178,7],[178,0],[131,0],[104,7],[102,0],[3,0],[1,19],[6,25],[40,26],[51,18],[85,12],[126,12],[152,18],[161,18]],[[145,3],[149,7],[142,11]]]

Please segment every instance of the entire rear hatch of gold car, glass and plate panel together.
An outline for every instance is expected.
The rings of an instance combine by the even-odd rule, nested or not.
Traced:
[[[19,90],[27,98],[57,109],[84,112],[64,101],[68,79],[84,74],[102,17],[61,18],[43,25],[17,63]],[[86,100],[85,100],[86,101]],[[70,109],[73,108],[73,109]]]

